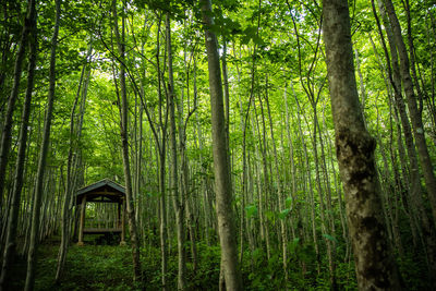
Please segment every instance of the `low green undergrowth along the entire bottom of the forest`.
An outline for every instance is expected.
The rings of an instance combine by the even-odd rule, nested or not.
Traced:
[[[155,235],[155,234],[150,234]],[[156,238],[157,239],[157,238]],[[341,242],[338,242],[338,254]],[[158,240],[156,241],[158,245]],[[169,250],[168,284],[177,286],[177,243]],[[186,244],[189,246],[189,243]],[[196,244],[198,267],[194,271],[191,258],[187,260],[189,290],[217,290],[220,272],[220,247]],[[132,281],[131,248],[129,246],[85,245],[71,246],[66,268],[59,286],[53,284],[58,241],[45,243],[39,247],[38,268],[35,290],[140,290],[141,287]],[[187,248],[190,250],[190,248]],[[190,257],[190,256],[189,256]],[[423,268],[422,254],[408,253],[398,260],[403,281],[408,290],[426,290],[426,270]],[[145,290],[160,288],[160,250],[157,246],[146,246],[141,250],[143,276],[146,281]],[[284,281],[282,254],[272,248],[270,258],[266,251],[257,247],[251,252],[244,248],[241,265],[245,290],[330,290],[328,263],[317,262],[313,244],[295,238],[288,242],[288,277]],[[14,282],[16,290],[24,283],[25,258],[19,259],[13,276],[22,278]],[[319,267],[320,272],[317,272]],[[336,282],[339,290],[356,290],[354,263],[336,262]]]

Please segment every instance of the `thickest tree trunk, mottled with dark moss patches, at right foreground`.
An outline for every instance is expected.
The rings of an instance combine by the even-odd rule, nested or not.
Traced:
[[[336,150],[360,290],[401,290],[382,216],[375,141],[359,102],[347,0],[324,0],[324,41]]]

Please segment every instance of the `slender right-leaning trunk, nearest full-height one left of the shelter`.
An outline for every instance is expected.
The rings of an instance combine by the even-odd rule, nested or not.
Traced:
[[[40,221],[40,206],[43,197],[43,183],[44,174],[46,170],[46,160],[48,155],[48,145],[50,143],[50,129],[51,129],[51,118],[53,111],[55,101],[55,87],[56,87],[56,49],[58,47],[58,34],[60,26],[60,15],[61,15],[61,0],[56,0],[56,20],[53,27],[53,35],[51,37],[51,52],[50,52],[50,71],[49,71],[49,90],[47,97],[47,109],[46,118],[44,121],[44,135],[43,144],[39,153],[38,159],[38,170],[36,175],[36,187],[35,196],[32,211],[32,229],[31,229],[31,242],[27,253],[27,274],[24,290],[29,291],[34,289],[35,284],[35,265],[38,245],[38,231]]]

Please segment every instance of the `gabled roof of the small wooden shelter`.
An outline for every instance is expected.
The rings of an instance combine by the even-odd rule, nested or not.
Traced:
[[[75,194],[75,204],[81,204],[85,195],[87,202],[121,203],[125,196],[125,189],[109,179],[104,179],[80,189]]]

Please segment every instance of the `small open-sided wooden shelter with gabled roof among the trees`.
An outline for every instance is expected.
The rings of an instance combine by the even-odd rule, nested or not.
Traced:
[[[116,203],[118,204],[117,222],[114,228],[85,228],[87,203]],[[94,184],[82,187],[75,194],[75,205],[81,206],[78,242],[84,245],[83,238],[87,234],[120,233],[120,244],[125,244],[125,189],[109,180],[104,179]]]

